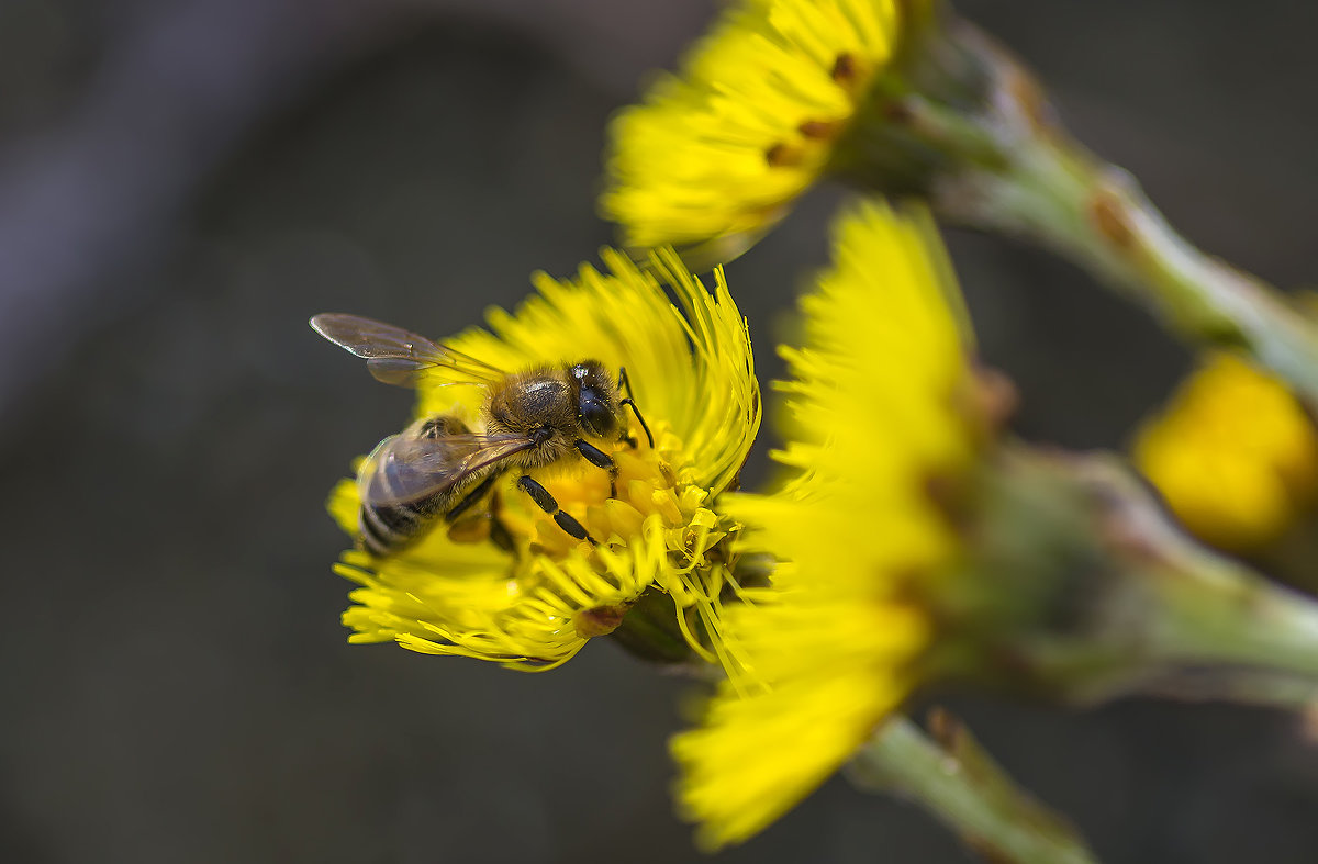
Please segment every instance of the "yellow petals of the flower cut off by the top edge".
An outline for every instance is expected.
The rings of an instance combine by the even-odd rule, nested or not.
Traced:
[[[743,252],[825,170],[904,16],[929,0],[743,0],[609,132],[604,215],[631,246]]]

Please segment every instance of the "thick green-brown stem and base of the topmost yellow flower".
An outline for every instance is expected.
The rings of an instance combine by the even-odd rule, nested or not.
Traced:
[[[1058,124],[1033,75],[970,24],[913,30],[840,141],[832,170],[927,198],[971,228],[1050,248],[1194,345],[1244,348],[1318,406],[1318,323],[1181,237],[1126,171]]]

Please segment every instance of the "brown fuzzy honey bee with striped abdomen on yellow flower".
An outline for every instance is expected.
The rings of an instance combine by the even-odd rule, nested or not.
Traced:
[[[563,531],[597,545],[585,526],[526,472],[585,458],[616,481],[613,457],[592,440],[637,446],[623,407],[654,446],[626,369],[618,370],[617,381],[594,360],[507,373],[368,317],[328,312],[312,317],[311,327],[365,360],[370,374],[385,383],[414,386],[430,373],[451,370],[463,382],[485,387],[482,432],[453,415],[424,418],[381,441],[357,472],[361,544],[377,557],[407,547],[439,520],[455,523],[469,514],[509,470],[522,472],[518,489]]]

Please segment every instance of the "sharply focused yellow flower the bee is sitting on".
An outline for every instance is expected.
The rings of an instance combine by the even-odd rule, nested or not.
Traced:
[[[336,572],[361,585],[344,612],[351,641],[397,640],[531,670],[556,666],[612,631],[651,586],[673,597],[684,628],[692,615],[713,618],[730,562],[716,547],[737,526],[712,502],[734,486],[759,427],[746,324],[721,271],[710,295],[671,252],[656,254],[651,271],[667,281],[675,307],[651,273],[614,252],[604,261],[608,275],[585,265],[569,282],[538,274],[539,296],[511,315],[489,312],[490,331],[444,342],[507,371],[588,358],[626,367],[655,448],[633,419],[635,449],[612,452],[617,497],[608,472],[584,461],[532,472],[600,545],[572,540],[513,486],[510,472],[492,508],[513,552],[439,526],[385,558],[343,554]],[[456,414],[480,431],[485,387],[443,378],[419,387],[418,418]],[[341,481],[330,510],[349,535],[358,506],[356,483]]]

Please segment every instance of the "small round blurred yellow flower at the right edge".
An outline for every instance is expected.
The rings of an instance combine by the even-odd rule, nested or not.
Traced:
[[[1272,375],[1209,356],[1135,443],[1135,461],[1172,512],[1234,552],[1265,545],[1318,493],[1318,433]]]

